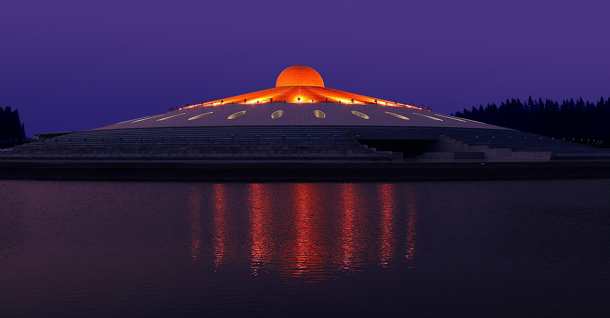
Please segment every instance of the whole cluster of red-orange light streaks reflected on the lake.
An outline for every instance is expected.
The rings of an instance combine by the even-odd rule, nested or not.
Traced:
[[[338,270],[358,270],[368,261],[389,266],[414,258],[417,194],[401,190],[400,184],[379,184],[371,193],[365,193],[370,188],[361,183],[282,186],[286,187],[282,189],[285,193],[274,197],[277,185],[246,185],[248,213],[235,214],[244,218],[239,221],[248,224],[247,234],[243,235],[234,232],[240,227],[229,223],[229,216],[233,215],[229,211],[232,188],[224,184],[212,186],[215,264],[243,261],[253,274],[273,266],[289,281],[310,283],[329,278]],[[366,198],[374,197],[378,199],[367,202]],[[202,200],[205,201],[201,193],[193,189],[190,194],[193,261],[201,253]],[[378,218],[367,216],[369,207],[378,207]],[[406,260],[398,255],[404,255]]]

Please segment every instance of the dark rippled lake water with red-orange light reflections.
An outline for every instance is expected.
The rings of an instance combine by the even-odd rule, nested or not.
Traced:
[[[610,314],[610,180],[0,180],[0,317]]]

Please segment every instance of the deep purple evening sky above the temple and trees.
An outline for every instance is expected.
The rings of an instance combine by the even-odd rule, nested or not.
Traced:
[[[610,95],[609,1],[10,1],[0,106],[32,133],[94,129],[275,86],[452,113],[506,98]]]

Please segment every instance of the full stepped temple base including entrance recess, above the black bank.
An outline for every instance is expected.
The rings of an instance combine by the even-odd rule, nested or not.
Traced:
[[[610,160],[610,149],[509,129],[286,125],[143,127],[49,135],[0,150],[1,160]]]

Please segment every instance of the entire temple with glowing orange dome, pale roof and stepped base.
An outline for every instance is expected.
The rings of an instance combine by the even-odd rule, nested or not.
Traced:
[[[605,149],[332,90],[317,71],[302,65],[284,69],[268,90],[35,138],[2,150],[0,160],[233,164],[610,158]]]

